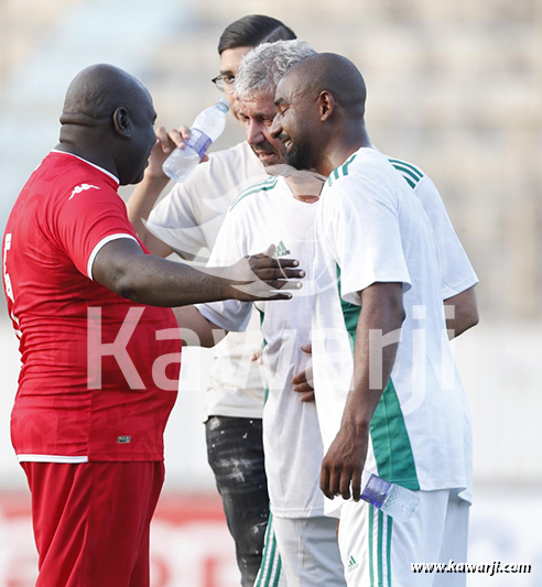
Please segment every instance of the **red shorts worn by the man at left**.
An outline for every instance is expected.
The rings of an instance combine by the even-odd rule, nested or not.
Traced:
[[[23,463],[40,555],[36,587],[148,587],[163,463]]]

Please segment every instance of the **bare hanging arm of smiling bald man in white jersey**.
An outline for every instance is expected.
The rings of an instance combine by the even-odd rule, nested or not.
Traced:
[[[401,283],[373,283],[361,292],[362,305],[356,330],[350,392],[340,430],[322,463],[319,487],[329,499],[337,494],[349,499],[351,483],[351,496],[355,501],[359,501],[369,424],[390,379],[398,349],[398,343],[393,343],[381,350],[371,350],[369,333],[381,330],[382,335],[386,335],[400,330],[405,316],[402,290]],[[381,384],[371,388],[370,373],[371,369],[377,369],[377,354],[382,359],[380,371],[377,373],[381,374]]]

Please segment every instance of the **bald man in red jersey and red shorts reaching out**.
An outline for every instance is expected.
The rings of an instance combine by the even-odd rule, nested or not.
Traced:
[[[149,585],[149,524],[181,340],[171,306],[271,292],[293,260],[200,272],[149,254],[118,185],[140,182],[156,115],[109,65],[71,84],[59,144],[8,220],[3,275],[22,370],[11,435],[32,492],[40,587]],[[262,292],[262,282],[267,292]],[[248,284],[258,284],[252,294]],[[161,307],[154,307],[161,306]]]

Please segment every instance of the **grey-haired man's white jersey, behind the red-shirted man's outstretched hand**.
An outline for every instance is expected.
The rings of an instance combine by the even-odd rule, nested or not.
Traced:
[[[269,391],[263,409],[265,470],[275,518],[324,513],[318,488],[323,445],[316,406],[303,403],[291,379],[304,370],[312,314],[311,264],[314,218],[318,204],[292,196],[284,178],[269,178],[247,189],[231,206],[213,249],[210,265],[229,265],[273,243],[275,256],[297,259],[305,269],[303,290],[290,301],[258,302],[265,341],[263,366]],[[200,313],[227,330],[242,330],[252,304],[228,300],[199,305]]]

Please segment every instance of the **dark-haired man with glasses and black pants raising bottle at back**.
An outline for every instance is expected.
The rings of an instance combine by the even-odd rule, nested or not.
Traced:
[[[245,17],[225,29],[219,43],[220,73],[213,81],[225,93],[238,119],[239,104],[232,89],[241,58],[264,42],[295,39],[282,22],[263,15]],[[176,251],[185,259],[210,251],[226,211],[248,186],[265,180],[264,165],[277,155],[265,140],[250,146],[246,141],[209,155],[209,161],[172,191],[152,209],[167,185],[162,163],[182,145],[189,131],[158,129],[144,180],[133,192],[128,210],[141,240],[151,253],[167,257]],[[152,210],[152,211],[151,211]],[[167,235],[167,244],[149,232]],[[230,334],[215,355],[206,393],[205,426],[208,461],[221,494],[228,528],[236,542],[242,586],[252,586],[263,550],[269,496],[263,464],[262,410],[264,384],[259,366],[251,361],[260,346],[258,317],[246,334]]]

